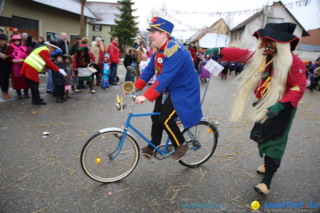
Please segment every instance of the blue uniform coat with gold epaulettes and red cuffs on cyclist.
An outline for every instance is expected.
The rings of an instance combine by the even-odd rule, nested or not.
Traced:
[[[135,87],[142,90],[155,73],[157,79],[144,96],[153,102],[161,93],[170,94],[183,126],[189,128],[198,124],[203,117],[200,84],[188,49],[173,37],[160,49],[154,49],[150,62],[137,79]]]

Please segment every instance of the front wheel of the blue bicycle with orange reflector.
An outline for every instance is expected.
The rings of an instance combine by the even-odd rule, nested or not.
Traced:
[[[120,146],[120,131],[108,131],[93,135],[82,148],[80,161],[83,171],[98,182],[114,182],[124,179],[139,161],[139,145],[128,134]],[[111,159],[113,156],[116,157]]]

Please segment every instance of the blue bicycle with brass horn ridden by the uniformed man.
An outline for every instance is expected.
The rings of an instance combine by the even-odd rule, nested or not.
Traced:
[[[126,92],[126,91],[125,91]],[[130,127],[148,144],[155,148],[153,157],[163,160],[172,157],[174,147],[167,138],[165,144],[153,145],[142,133],[130,124],[132,117],[159,115],[156,113],[132,114],[134,108],[135,94],[127,94],[131,104],[122,105],[118,98],[117,109],[122,110],[131,107],[128,118],[121,128],[105,128],[93,135],[82,148],[80,161],[81,167],[91,179],[98,182],[114,182],[128,176],[138,164],[141,149],[135,136],[128,132]],[[175,118],[177,122],[177,118]],[[181,123],[179,123],[181,124]],[[189,145],[184,158],[178,161],[187,167],[196,167],[206,162],[216,149],[219,137],[218,122],[213,123],[211,117],[204,116],[199,124],[188,129],[181,128],[181,132]]]

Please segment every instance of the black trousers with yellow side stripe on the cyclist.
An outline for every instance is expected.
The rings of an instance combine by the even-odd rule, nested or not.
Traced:
[[[173,104],[171,102],[171,96],[169,95],[162,104],[162,94],[155,101],[155,107],[153,112],[160,112],[160,115],[151,116],[152,127],[151,127],[151,142],[155,146],[161,144],[163,130],[169,135],[169,138],[174,147],[178,147],[183,144],[186,140],[184,139],[182,133],[176,122],[173,120],[177,117],[177,113],[174,110]],[[152,146],[148,145],[150,149],[154,149]]]

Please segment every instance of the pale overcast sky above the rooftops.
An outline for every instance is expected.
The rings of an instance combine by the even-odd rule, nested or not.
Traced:
[[[89,0],[88,0],[89,1]],[[94,0],[99,2],[117,2],[116,0]],[[309,1],[309,0],[308,0]],[[226,12],[226,11],[243,11],[262,8],[264,5],[272,4],[272,1],[257,1],[257,0],[223,0],[223,1],[190,1],[190,0],[162,0],[162,1],[147,1],[147,0],[132,0],[135,2],[132,9],[137,9],[133,13],[134,16],[139,16],[137,22],[140,22],[138,27],[142,30],[148,28],[147,17],[150,14],[152,7],[162,7],[163,4],[167,7],[168,10],[177,10],[177,11],[194,11],[194,12]],[[198,4],[197,4],[198,2]],[[292,3],[292,0],[282,0],[283,4]],[[319,28],[319,9],[318,9],[319,0],[312,0],[307,6],[296,7],[293,6],[288,10],[292,15],[298,20],[302,27],[308,31],[310,29]],[[188,24],[192,27],[202,28],[205,25],[211,26],[215,21],[220,19],[219,17],[200,17],[192,15],[177,16],[171,14],[175,19],[180,20],[181,22]],[[249,18],[245,15],[235,15],[233,18],[234,26],[240,24],[245,19]],[[221,17],[223,18],[223,17]],[[185,25],[180,25],[177,23],[172,23],[175,25],[174,29],[187,29]],[[174,32],[173,36],[182,39],[188,39],[191,35],[195,34],[195,31],[186,31],[186,32]]]

